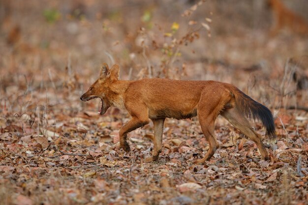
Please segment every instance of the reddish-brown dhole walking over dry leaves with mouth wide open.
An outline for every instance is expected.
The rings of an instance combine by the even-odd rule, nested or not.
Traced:
[[[209,142],[209,149],[202,159],[209,160],[219,144],[214,134],[214,122],[218,115],[225,117],[233,126],[251,139],[268,160],[267,151],[260,136],[251,128],[246,117],[259,119],[266,127],[267,135],[276,139],[275,124],[271,111],[254,101],[233,85],[216,81],[178,81],[169,79],[119,80],[119,66],[111,69],[104,63],[96,82],[80,99],[101,99],[99,113],[103,115],[110,106],[126,109],[131,120],[120,129],[120,145],[130,151],[127,133],[149,123],[154,123],[153,155],[146,161],[157,160],[161,152],[164,120],[166,117],[185,119],[198,116],[202,132]]]

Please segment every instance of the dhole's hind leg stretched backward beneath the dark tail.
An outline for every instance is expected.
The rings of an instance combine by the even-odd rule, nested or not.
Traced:
[[[262,143],[260,136],[251,128],[249,121],[240,111],[238,111],[236,108],[231,108],[224,111],[221,115],[257,145],[264,160],[269,160],[268,153]]]

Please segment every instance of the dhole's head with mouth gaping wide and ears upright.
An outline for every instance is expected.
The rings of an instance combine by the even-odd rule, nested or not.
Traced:
[[[119,71],[119,65],[115,64],[111,69],[109,69],[107,63],[103,63],[99,78],[92,84],[92,86],[90,86],[88,91],[80,97],[80,99],[82,101],[89,101],[94,98],[99,98],[101,104],[98,113],[104,115],[110,107],[110,102],[108,100],[110,84],[119,79]]]

